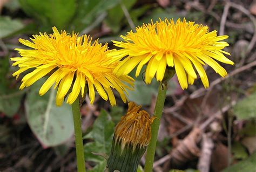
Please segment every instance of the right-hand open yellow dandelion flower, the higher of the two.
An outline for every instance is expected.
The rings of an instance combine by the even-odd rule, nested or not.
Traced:
[[[228,46],[221,40],[228,36],[217,36],[217,31],[208,31],[208,26],[186,22],[180,19],[174,23],[165,19],[156,23],[143,24],[137,27],[136,32],[128,32],[120,36],[124,42],[113,41],[114,45],[123,49],[112,51],[113,60],[122,59],[114,73],[128,74],[137,67],[136,77],[147,64],[145,81],[150,84],[156,75],[158,81],[163,80],[166,67],[174,67],[181,87],[187,88],[197,78],[196,68],[205,87],[209,86],[208,78],[203,65],[208,64],[213,70],[225,77],[226,70],[217,61],[233,65],[223,51]]]

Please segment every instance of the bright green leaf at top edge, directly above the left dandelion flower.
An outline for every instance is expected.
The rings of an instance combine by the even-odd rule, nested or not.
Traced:
[[[76,12],[75,0],[19,0],[19,3],[25,13],[46,27],[63,29]]]

